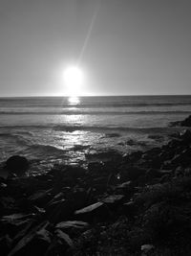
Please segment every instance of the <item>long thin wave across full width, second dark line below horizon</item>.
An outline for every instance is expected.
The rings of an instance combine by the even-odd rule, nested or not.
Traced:
[[[190,114],[191,110],[167,110],[167,111],[0,111],[0,115],[174,115]]]

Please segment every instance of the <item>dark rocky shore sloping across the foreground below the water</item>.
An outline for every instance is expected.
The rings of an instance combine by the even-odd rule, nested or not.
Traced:
[[[191,131],[181,124],[160,148],[111,153],[87,168],[26,176],[28,160],[9,159],[0,255],[191,255]]]

